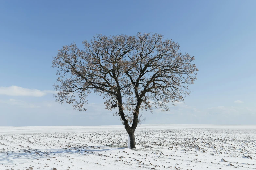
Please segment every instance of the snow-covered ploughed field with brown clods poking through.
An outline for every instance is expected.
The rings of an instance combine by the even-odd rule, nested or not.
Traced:
[[[256,169],[256,125],[0,127],[0,170]]]

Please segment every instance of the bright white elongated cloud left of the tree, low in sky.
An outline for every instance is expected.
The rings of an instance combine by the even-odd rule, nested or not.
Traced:
[[[55,91],[52,90],[37,90],[37,89],[27,89],[19,86],[10,86],[10,87],[0,87],[0,95],[8,96],[33,96],[33,97],[42,97],[46,94],[51,93],[55,94]]]

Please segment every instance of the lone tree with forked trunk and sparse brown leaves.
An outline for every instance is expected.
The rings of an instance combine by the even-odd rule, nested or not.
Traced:
[[[168,105],[184,102],[196,80],[195,58],[179,52],[179,44],[157,33],[136,36],[94,35],[83,42],[85,50],[75,43],[63,46],[54,57],[60,103],[72,103],[77,111],[85,111],[89,93],[102,95],[106,109],[116,109],[124,125],[130,148],[136,148],[135,129],[139,112],[166,111]],[[77,96],[77,97],[75,97]]]

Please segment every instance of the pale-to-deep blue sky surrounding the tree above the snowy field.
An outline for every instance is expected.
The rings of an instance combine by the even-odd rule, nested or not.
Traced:
[[[95,94],[85,112],[56,103],[51,61],[63,45],[82,49],[94,34],[137,32],[178,42],[199,69],[185,104],[143,112],[145,124],[255,124],[255,6],[254,0],[0,1],[0,126],[121,124]]]

